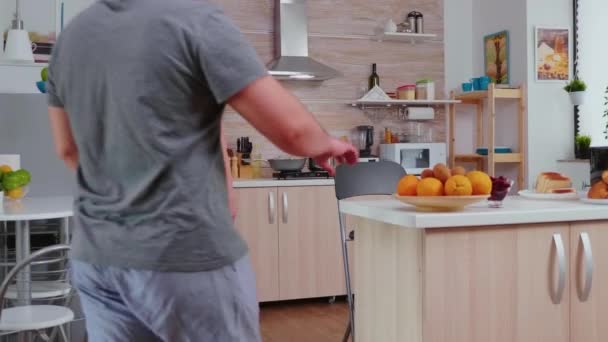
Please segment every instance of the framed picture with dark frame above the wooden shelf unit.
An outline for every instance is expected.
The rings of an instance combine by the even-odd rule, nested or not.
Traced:
[[[501,31],[483,38],[485,74],[493,83],[509,84],[509,32]]]

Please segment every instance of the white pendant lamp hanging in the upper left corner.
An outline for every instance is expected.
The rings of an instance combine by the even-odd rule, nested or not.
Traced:
[[[21,4],[20,0],[16,0],[17,10],[15,11],[15,19],[13,26],[8,31],[6,37],[6,48],[2,59],[7,62],[34,62],[34,53],[32,52],[32,42],[30,41],[29,33],[23,29],[23,20],[21,20]]]

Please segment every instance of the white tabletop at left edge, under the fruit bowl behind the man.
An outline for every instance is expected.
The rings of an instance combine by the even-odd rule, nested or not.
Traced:
[[[1,221],[32,221],[71,217],[74,215],[74,198],[26,197],[20,201],[4,199],[0,208]]]

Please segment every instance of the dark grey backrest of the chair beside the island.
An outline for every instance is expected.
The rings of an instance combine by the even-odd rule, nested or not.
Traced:
[[[336,197],[343,200],[357,196],[392,195],[405,174],[401,165],[391,161],[340,165],[335,176]]]

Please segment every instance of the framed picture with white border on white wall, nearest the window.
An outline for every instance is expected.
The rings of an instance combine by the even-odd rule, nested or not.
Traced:
[[[536,27],[536,81],[565,82],[570,80],[570,29]]]

